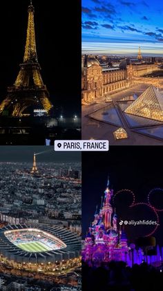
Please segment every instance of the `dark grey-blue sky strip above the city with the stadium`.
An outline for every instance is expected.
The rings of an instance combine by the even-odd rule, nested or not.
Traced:
[[[44,146],[1,146],[0,147],[0,163],[1,162],[28,162],[32,163],[33,153],[37,155],[37,163],[53,162],[81,162],[81,153],[78,152],[59,152],[54,151],[54,147]]]

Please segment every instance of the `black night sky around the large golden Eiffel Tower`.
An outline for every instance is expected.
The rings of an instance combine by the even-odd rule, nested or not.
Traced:
[[[15,82],[23,61],[30,0],[1,1],[0,101]],[[80,0],[40,1],[35,6],[35,33],[41,75],[52,103],[66,114],[81,112]]]

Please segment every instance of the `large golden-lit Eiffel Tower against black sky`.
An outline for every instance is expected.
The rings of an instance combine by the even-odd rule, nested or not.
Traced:
[[[37,59],[34,13],[35,8],[30,0],[23,63],[20,64],[19,74],[14,85],[8,87],[7,97],[0,104],[0,115],[21,117],[30,106],[44,109],[48,115],[52,108],[49,92],[42,81],[41,67]]]

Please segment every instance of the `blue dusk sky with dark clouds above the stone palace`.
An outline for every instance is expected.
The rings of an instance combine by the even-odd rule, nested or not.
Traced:
[[[82,0],[84,53],[163,56],[163,2]]]

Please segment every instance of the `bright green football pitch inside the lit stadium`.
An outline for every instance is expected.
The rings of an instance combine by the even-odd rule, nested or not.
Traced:
[[[17,244],[17,247],[32,253],[37,253],[38,251],[50,251],[50,247],[46,246],[42,242],[26,242],[23,244]]]

